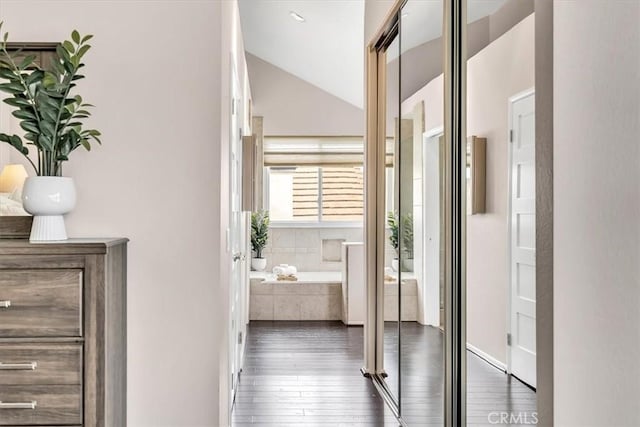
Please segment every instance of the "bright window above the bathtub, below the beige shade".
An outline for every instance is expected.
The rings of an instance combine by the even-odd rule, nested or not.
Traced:
[[[273,223],[362,222],[362,167],[268,167],[266,178]]]

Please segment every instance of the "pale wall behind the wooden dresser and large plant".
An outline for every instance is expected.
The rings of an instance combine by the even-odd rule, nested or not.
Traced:
[[[1,0],[16,41],[92,33],[84,98],[104,145],[71,156],[72,236],[126,236],[128,421],[219,425],[230,265],[229,61],[235,2]],[[241,62],[241,61],[240,61]],[[242,79],[243,69],[239,70]],[[222,209],[221,209],[222,208]],[[226,377],[225,377],[226,378]]]

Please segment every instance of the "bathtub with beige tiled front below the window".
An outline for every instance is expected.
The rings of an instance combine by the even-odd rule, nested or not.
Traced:
[[[249,320],[342,320],[342,274],[302,271],[298,281],[250,273]]]

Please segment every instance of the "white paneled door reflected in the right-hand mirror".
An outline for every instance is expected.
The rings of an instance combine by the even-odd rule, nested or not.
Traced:
[[[536,386],[535,96],[511,99],[511,373]]]

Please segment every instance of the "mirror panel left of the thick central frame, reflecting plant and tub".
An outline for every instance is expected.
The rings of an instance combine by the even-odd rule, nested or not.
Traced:
[[[400,414],[444,425],[443,2],[400,11]]]

